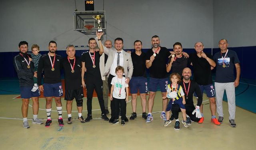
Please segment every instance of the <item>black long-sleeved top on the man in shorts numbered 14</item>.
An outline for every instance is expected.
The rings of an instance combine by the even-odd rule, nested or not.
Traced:
[[[50,56],[52,63],[54,62],[54,56]],[[61,56],[55,56],[54,62],[54,71],[52,71],[52,64],[50,62],[50,58],[48,54],[44,54],[38,62],[37,68],[37,81],[38,85],[42,85],[42,71],[44,70],[44,83],[47,84],[55,84],[60,83],[60,63],[61,63]]]

